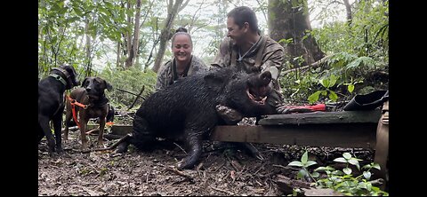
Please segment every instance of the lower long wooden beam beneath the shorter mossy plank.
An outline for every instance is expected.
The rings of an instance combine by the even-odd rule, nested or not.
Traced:
[[[299,146],[375,147],[376,123],[217,126],[210,139]]]

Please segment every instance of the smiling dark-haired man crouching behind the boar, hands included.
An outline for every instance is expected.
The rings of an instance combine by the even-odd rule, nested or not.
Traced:
[[[274,109],[283,106],[278,76],[282,69],[284,48],[258,29],[255,12],[246,6],[236,7],[227,14],[227,37],[220,45],[220,51],[212,67],[239,67],[246,73],[259,73],[269,70],[272,76],[270,87],[272,93],[267,103]],[[218,113],[226,122],[238,122],[237,112],[226,107],[219,107]]]

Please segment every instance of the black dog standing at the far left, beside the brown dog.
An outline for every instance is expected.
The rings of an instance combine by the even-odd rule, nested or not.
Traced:
[[[45,136],[49,154],[62,152],[60,128],[64,111],[64,92],[79,85],[74,67],[62,65],[53,67],[51,73],[38,83],[38,142]],[[55,138],[49,122],[52,120]]]

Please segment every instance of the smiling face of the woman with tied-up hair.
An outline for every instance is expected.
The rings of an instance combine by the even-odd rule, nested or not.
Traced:
[[[172,43],[173,56],[177,61],[186,61],[191,57],[193,46],[188,35],[175,35]]]

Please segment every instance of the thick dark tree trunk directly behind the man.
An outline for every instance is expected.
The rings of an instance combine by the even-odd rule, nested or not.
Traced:
[[[298,6],[294,6],[295,3]],[[290,59],[294,67],[310,65],[325,57],[314,37],[306,34],[307,30],[311,30],[307,11],[307,0],[269,1],[270,37],[276,41],[292,38],[292,42],[285,47],[285,58]],[[303,61],[294,61],[294,58],[299,56],[302,56]]]

